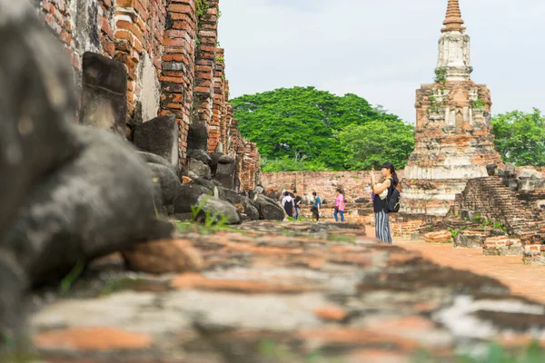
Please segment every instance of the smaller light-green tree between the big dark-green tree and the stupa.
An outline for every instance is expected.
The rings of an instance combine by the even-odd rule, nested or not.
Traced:
[[[400,120],[372,120],[344,128],[339,140],[351,170],[378,169],[383,162],[401,169],[414,149],[414,129]]]

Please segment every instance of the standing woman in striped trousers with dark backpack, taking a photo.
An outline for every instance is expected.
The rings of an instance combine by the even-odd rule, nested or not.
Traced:
[[[391,231],[389,211],[387,206],[388,197],[400,182],[397,173],[391,162],[384,162],[381,166],[381,176],[384,181],[377,183],[374,169],[371,173],[371,189],[374,193],[373,209],[375,213],[375,235],[377,239],[391,243]]]

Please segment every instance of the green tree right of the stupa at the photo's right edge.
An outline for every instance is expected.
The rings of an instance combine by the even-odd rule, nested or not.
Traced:
[[[492,126],[496,151],[504,162],[545,166],[545,117],[540,110],[502,113],[492,119]]]

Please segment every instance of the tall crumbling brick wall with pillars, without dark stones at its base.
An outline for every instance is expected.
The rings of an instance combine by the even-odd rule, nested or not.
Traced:
[[[236,157],[241,188],[259,181],[255,144],[243,140],[228,103],[224,51],[216,47],[219,0],[35,0],[39,14],[64,44],[81,83],[85,52],[127,69],[127,137],[135,123],[174,114],[180,125],[181,166],[190,125],[203,124],[207,149]],[[222,150],[220,150],[221,152]]]

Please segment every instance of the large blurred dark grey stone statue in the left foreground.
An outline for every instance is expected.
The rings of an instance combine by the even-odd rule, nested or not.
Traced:
[[[0,49],[2,350],[24,325],[26,290],[172,226],[155,219],[133,147],[75,124],[72,70],[27,2],[0,0]]]

